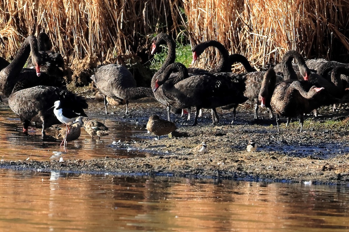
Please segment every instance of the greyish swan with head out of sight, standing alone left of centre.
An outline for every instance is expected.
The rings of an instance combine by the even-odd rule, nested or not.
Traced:
[[[105,114],[108,113],[107,96],[114,99],[125,99],[126,114],[128,113],[128,100],[154,97],[150,88],[137,87],[132,73],[122,65],[108,64],[98,66],[91,79],[95,82],[99,92],[104,96]]]

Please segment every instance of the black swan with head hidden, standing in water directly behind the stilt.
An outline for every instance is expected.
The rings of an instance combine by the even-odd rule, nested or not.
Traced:
[[[23,132],[28,133],[31,121],[39,122],[42,124],[43,136],[45,128],[60,123],[52,109],[55,101],[61,101],[70,110],[87,116],[84,109],[88,105],[83,97],[57,87],[35,86],[16,91],[8,97],[11,110],[20,117]]]

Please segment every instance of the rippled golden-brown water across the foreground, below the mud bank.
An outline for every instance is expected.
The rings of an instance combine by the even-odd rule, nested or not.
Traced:
[[[347,231],[348,189],[0,170],[0,231]]]

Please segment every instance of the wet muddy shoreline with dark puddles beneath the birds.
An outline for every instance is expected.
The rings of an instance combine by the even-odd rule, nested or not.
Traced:
[[[130,104],[130,113],[125,115],[125,106],[109,107],[111,114],[104,115],[104,105],[93,99],[88,88],[80,95],[88,98],[91,118],[109,118],[144,127],[152,114],[166,118],[165,109],[153,99],[144,98]],[[102,110],[101,110],[102,109]],[[253,120],[253,106],[239,106],[237,118],[231,125],[230,111],[218,110],[221,122],[212,125],[210,112],[205,110],[198,126],[191,126],[186,117],[171,115],[179,127],[172,138],[146,133],[135,134],[132,142],[120,141],[110,144],[114,149],[134,149],[148,152],[148,157],[91,160],[52,161],[0,161],[0,168],[36,171],[62,171],[71,173],[119,173],[137,175],[174,175],[206,178],[252,179],[318,183],[349,182],[349,130],[343,119],[347,117],[346,106],[332,112],[330,107],[320,110],[320,117],[306,118],[304,131],[299,133],[298,123],[285,128],[282,119],[281,131],[277,132],[275,119],[267,111],[259,111],[260,119]],[[192,114],[192,117],[194,115]],[[193,119],[193,118],[192,118]],[[103,138],[102,138],[103,139]],[[255,152],[247,152],[249,139],[258,144]],[[194,153],[192,149],[206,141],[206,153]],[[69,146],[67,147],[67,153]]]

